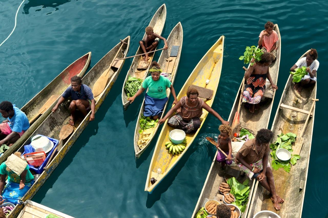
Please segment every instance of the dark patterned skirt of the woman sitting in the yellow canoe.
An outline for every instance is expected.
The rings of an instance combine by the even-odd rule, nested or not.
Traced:
[[[167,122],[175,128],[182,129],[186,133],[194,132],[200,127],[199,117],[192,118],[190,120],[185,120],[181,117],[180,114],[175,114]]]

